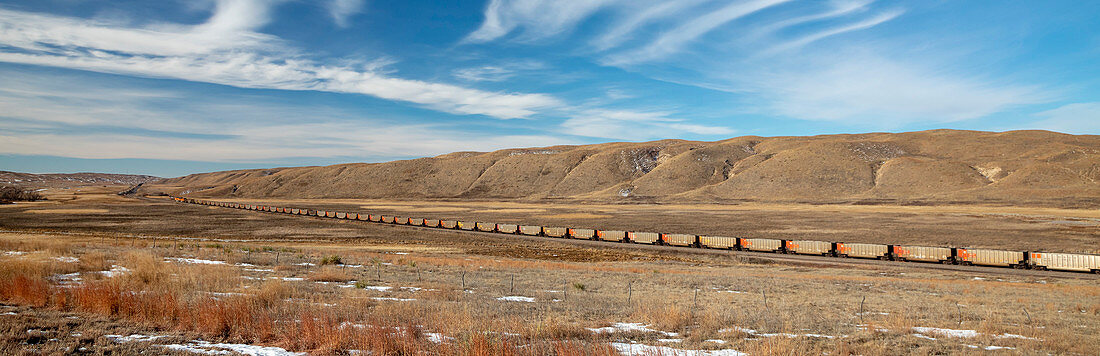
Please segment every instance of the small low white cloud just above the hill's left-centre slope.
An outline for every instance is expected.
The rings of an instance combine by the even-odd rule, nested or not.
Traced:
[[[562,132],[570,135],[628,141],[669,138],[683,134],[721,136],[735,132],[729,127],[685,123],[670,115],[671,113],[660,111],[591,109],[565,120],[561,127]]]

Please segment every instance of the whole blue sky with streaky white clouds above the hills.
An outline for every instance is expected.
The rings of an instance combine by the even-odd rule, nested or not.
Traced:
[[[0,170],[1100,134],[1100,2],[0,0]]]

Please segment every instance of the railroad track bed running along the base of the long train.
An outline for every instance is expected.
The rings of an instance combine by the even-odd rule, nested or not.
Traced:
[[[1024,277],[1057,277],[1057,278],[1079,278],[1079,279],[1100,279],[1100,274],[1084,274],[1075,271],[1062,271],[1062,270],[1045,270],[1045,269],[1018,269],[1018,268],[1004,268],[1004,267],[991,267],[991,266],[975,266],[975,265],[964,265],[964,264],[936,264],[936,263],[919,263],[919,262],[902,262],[902,260],[883,260],[883,259],[869,259],[869,258],[838,258],[831,256],[817,256],[817,255],[801,255],[801,254],[785,254],[785,253],[769,253],[769,252],[752,252],[752,251],[739,251],[739,249],[715,249],[715,248],[698,248],[696,247],[684,247],[684,246],[670,246],[661,244],[639,244],[623,242],[608,242],[600,240],[581,240],[581,238],[570,238],[570,237],[547,237],[542,235],[525,235],[520,233],[502,233],[497,231],[479,231],[476,227],[472,229],[446,229],[439,225],[437,226],[425,226],[424,219],[420,220],[421,225],[413,225],[407,222],[386,222],[385,218],[381,221],[372,221],[370,219],[359,219],[363,216],[360,213],[346,213],[346,212],[324,212],[309,209],[292,209],[292,208],[273,208],[265,205],[250,205],[250,204],[239,204],[231,202],[218,202],[218,201],[202,201],[190,198],[176,198],[172,197],[174,201],[184,203],[195,203],[213,207],[224,207],[229,209],[244,209],[261,212],[274,212],[279,214],[292,214],[300,216],[312,216],[320,219],[334,219],[334,220],[349,220],[349,221],[361,221],[370,223],[381,223],[385,225],[394,225],[408,229],[428,229],[428,230],[448,230],[458,233],[476,234],[488,237],[505,238],[505,240],[525,240],[535,242],[548,242],[554,241],[560,243],[569,243],[583,246],[598,246],[598,247],[613,247],[613,248],[632,248],[632,249],[645,249],[654,252],[674,252],[674,253],[689,253],[689,254],[705,254],[705,255],[727,255],[743,258],[752,258],[761,260],[770,260],[777,263],[795,264],[795,265],[814,265],[814,266],[845,266],[845,265],[859,265],[859,266],[877,266],[877,267],[898,267],[898,268],[923,268],[923,269],[935,269],[935,270],[952,270],[952,271],[966,271],[966,272],[981,272],[986,275],[1003,275],[1003,276],[1024,276]],[[292,212],[293,211],[293,212]],[[300,211],[300,213],[299,213]],[[317,215],[329,213],[328,216]],[[355,218],[350,216],[350,214],[355,214]],[[394,216],[389,216],[391,220]],[[404,218],[409,220],[409,218]],[[436,221],[437,224],[442,223],[440,220]],[[462,224],[461,222],[455,222]],[[485,224],[485,223],[476,223]],[[496,226],[497,224],[494,224]],[[573,229],[570,229],[572,233]],[[663,235],[663,234],[662,234]],[[965,251],[965,249],[964,249]],[[1027,255],[1027,253],[1023,253]],[[1088,256],[1088,255],[1087,255]],[[1098,256],[1100,257],[1100,256]]]

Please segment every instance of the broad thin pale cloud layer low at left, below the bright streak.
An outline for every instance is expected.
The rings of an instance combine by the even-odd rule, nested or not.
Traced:
[[[0,74],[13,79],[0,81],[0,154],[242,163],[578,143],[561,135],[496,135],[249,97]]]

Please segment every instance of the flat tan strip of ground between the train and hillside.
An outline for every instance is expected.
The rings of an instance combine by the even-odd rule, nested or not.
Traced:
[[[217,199],[216,199],[217,200]],[[229,200],[432,219],[834,242],[1100,253],[1100,210],[982,205]]]

